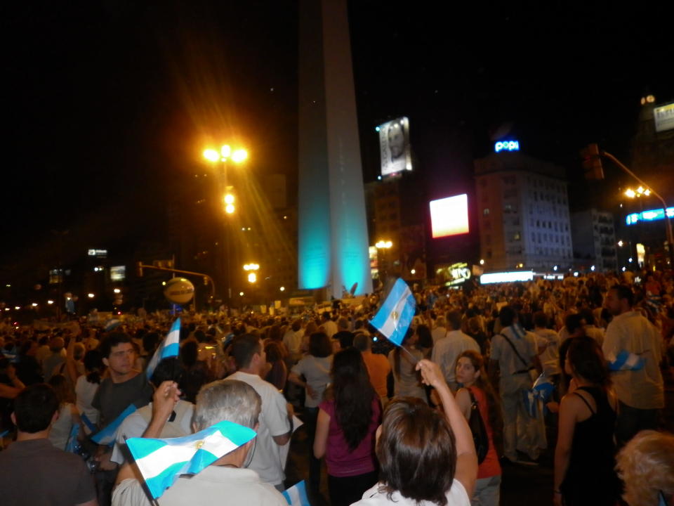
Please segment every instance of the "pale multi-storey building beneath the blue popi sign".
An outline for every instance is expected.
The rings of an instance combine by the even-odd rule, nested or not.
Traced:
[[[480,254],[486,271],[571,266],[566,171],[519,152],[475,160]]]

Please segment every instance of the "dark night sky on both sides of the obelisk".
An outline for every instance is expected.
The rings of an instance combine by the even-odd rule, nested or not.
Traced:
[[[674,99],[670,13],[655,2],[350,2],[364,176],[374,126],[411,121],[416,157],[470,157],[508,132],[578,171],[596,141],[627,156],[639,99]],[[297,162],[293,1],[14,2],[2,8],[4,257],[51,230],[119,216],[161,235],[167,188],[220,139],[249,170]],[[449,150],[452,152],[452,150]],[[452,161],[447,160],[447,166]]]

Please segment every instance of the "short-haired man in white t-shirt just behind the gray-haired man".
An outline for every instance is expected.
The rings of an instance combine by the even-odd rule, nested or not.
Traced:
[[[266,361],[259,337],[252,334],[234,337],[230,354],[237,365],[237,372],[227,377],[225,381],[245,382],[262,398],[257,443],[249,467],[260,474],[262,481],[282,491],[286,477],[284,474],[286,462],[282,457],[281,447],[289,443],[292,435],[293,408],[286,403],[283,394],[274,385],[260,377]]]

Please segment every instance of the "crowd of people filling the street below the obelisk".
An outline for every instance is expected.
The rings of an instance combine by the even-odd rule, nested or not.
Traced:
[[[413,292],[400,346],[369,324],[385,293],[293,316],[183,313],[179,356],[150,377],[168,312],[112,330],[3,323],[3,503],[150,504],[126,439],[229,420],[256,438],[178,479],[159,504],[285,504],[299,422],[315,505],[325,486],[333,506],[498,505],[503,468],[538,465],[549,434],[555,505],[673,504],[674,436],[662,418],[671,273]],[[531,413],[541,377],[553,391]],[[110,445],[92,440],[131,406]]]

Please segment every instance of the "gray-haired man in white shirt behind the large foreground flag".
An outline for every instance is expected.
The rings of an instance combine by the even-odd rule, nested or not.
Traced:
[[[154,393],[152,420],[144,437],[169,420],[178,402],[180,390],[174,382],[163,382]],[[194,432],[227,420],[257,430],[262,401],[249,384],[237,380],[219,380],[201,387],[194,408]],[[194,476],[180,476],[176,483],[157,500],[161,506],[227,504],[286,506],[283,495],[274,486],[260,481],[253,469],[245,469],[256,439],[239,446]],[[137,470],[136,470],[137,473]],[[138,474],[126,464],[117,477],[112,493],[113,506],[150,506]]]

